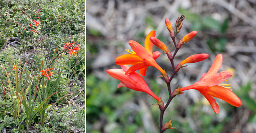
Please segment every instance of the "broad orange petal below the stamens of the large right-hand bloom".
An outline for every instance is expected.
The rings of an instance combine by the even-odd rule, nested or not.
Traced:
[[[236,94],[222,86],[216,85],[209,87],[206,93],[212,95],[213,97],[222,99],[233,106],[239,107],[241,105],[241,100],[236,96]]]

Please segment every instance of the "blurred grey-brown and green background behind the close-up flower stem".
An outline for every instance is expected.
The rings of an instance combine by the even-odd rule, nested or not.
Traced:
[[[144,45],[150,31],[173,52],[174,45],[164,19],[172,24],[184,15],[176,42],[191,31],[197,36],[182,45],[174,64],[192,54],[209,58],[180,69],[171,82],[172,90],[200,80],[215,56],[223,54],[220,71],[230,70],[228,79],[242,105],[234,107],[221,99],[219,114],[197,91],[187,90],[173,99],[163,123],[173,120],[166,133],[255,133],[256,132],[256,1],[255,0],[87,0],[86,2],[86,116],[90,133],[157,133],[160,110],[147,93],[117,89],[119,81],[106,69],[120,68],[115,58],[131,49],[129,40]],[[174,25],[173,25],[174,27]],[[153,51],[160,51],[153,47]],[[167,56],[161,52],[156,62],[171,74]],[[149,88],[166,103],[167,86],[158,70],[148,67],[144,77]]]

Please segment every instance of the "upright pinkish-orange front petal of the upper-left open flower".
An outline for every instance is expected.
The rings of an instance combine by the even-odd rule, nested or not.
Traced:
[[[141,58],[141,59],[146,59],[148,57],[150,57],[151,55],[149,54],[149,52],[147,51],[147,49],[145,49],[144,47],[142,47],[139,43],[137,43],[136,41],[129,41],[129,45],[132,47],[132,50],[134,50],[134,52]]]

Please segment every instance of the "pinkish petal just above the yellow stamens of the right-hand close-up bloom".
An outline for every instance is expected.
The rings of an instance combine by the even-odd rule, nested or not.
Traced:
[[[210,75],[209,77],[203,78],[198,82],[198,86],[215,86],[218,85],[219,83],[225,81],[226,79],[230,78],[232,76],[232,72],[230,71],[223,71],[220,72],[219,74],[213,74]]]

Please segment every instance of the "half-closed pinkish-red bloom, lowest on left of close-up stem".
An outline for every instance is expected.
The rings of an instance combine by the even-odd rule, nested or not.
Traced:
[[[107,73],[121,82],[117,85],[117,88],[127,87],[132,90],[136,90],[139,92],[145,92],[154,97],[157,101],[160,98],[154,94],[149,88],[147,83],[144,81],[143,77],[139,75],[137,72],[131,72],[130,74],[126,74],[127,70],[129,70],[129,66],[121,65],[122,69],[109,69]]]

